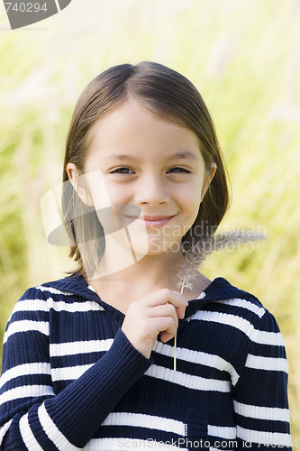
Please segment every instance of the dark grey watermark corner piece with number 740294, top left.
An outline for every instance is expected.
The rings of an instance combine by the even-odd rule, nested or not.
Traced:
[[[26,2],[20,0],[4,1],[5,11],[11,29],[23,28],[32,23],[41,22],[51,15],[65,9],[72,0],[36,0]]]

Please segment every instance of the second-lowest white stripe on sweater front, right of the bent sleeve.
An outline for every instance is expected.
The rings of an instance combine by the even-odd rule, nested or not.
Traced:
[[[142,413],[112,412],[106,417],[102,426],[132,426],[174,432],[178,436],[185,435],[185,423],[182,421]]]

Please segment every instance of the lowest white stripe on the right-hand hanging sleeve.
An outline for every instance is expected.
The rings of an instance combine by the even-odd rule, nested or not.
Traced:
[[[258,443],[261,446],[292,446],[291,436],[280,432],[264,432],[237,426],[237,436],[246,442],[251,442],[252,445]]]

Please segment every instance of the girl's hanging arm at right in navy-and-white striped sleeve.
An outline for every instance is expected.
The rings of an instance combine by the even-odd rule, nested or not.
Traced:
[[[286,351],[277,322],[268,311],[250,335],[250,350],[232,396],[239,449],[247,445],[261,450],[292,449]]]

